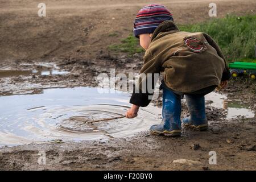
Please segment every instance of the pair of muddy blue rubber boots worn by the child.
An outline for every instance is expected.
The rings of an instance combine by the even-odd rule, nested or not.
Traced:
[[[205,93],[213,89],[214,86],[204,89]],[[170,137],[181,135],[181,98],[185,93],[177,94],[175,91],[167,88],[165,85],[161,85],[163,89],[163,110],[162,110],[162,122],[159,125],[152,125],[150,127],[151,134],[166,135]],[[206,90],[206,91],[205,91]],[[212,92],[212,91],[210,91]],[[191,117],[184,118],[185,125],[189,125],[199,129],[201,131],[206,130],[207,119],[205,116],[205,104],[204,95],[200,92],[195,94],[185,94],[188,110]]]

